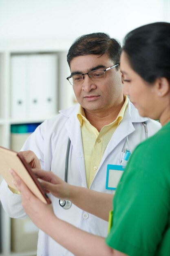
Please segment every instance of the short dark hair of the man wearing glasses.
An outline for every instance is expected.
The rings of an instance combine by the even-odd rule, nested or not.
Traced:
[[[108,57],[117,64],[120,62],[121,46],[118,40],[110,38],[105,33],[92,33],[80,36],[71,45],[67,54],[67,62],[70,67],[71,60],[76,56],[107,53]]]

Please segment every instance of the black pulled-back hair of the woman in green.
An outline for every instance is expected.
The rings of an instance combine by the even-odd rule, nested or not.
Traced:
[[[122,50],[132,69],[145,81],[159,77],[170,81],[170,23],[156,22],[129,32]]]

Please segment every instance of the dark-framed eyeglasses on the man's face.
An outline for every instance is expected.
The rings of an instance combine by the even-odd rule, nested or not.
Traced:
[[[71,83],[71,85],[81,85],[84,82],[85,75],[92,81],[99,81],[100,79],[105,78],[105,72],[112,69],[113,67],[117,67],[119,63],[115,64],[114,66],[108,67],[102,70],[92,70],[84,74],[75,74],[72,76],[68,76],[66,79]]]

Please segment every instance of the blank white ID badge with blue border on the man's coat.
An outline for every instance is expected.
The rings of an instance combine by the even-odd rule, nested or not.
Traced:
[[[108,164],[106,173],[106,189],[115,190],[124,172],[124,166]]]

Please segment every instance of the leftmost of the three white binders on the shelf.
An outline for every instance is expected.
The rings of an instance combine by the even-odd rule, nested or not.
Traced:
[[[26,117],[27,56],[11,56],[11,117]]]

